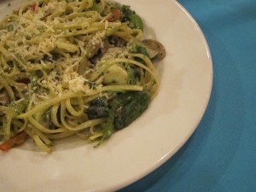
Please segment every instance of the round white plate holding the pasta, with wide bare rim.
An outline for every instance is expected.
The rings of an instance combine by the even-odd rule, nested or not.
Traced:
[[[24,0],[1,1],[0,16]],[[93,148],[61,143],[52,154],[30,144],[0,153],[1,191],[85,192],[123,188],[168,160],[199,124],[212,90],[212,60],[201,29],[172,0],[123,0],[167,49],[157,64],[160,93],[128,128]],[[73,142],[73,143],[71,143]]]

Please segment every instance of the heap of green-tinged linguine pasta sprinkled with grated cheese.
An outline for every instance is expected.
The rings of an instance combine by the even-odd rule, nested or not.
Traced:
[[[63,137],[95,141],[108,114],[90,118],[92,101],[104,98],[109,109],[125,92],[147,91],[153,99],[159,82],[134,15],[106,0],[39,0],[6,15],[0,23],[3,141],[25,131],[48,152]]]

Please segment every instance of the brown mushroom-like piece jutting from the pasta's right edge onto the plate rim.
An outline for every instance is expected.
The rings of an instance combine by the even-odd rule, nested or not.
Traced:
[[[160,42],[154,39],[144,39],[142,42],[148,48],[149,52],[150,49],[154,52],[151,59],[162,60],[166,57],[166,48],[163,44],[160,44]]]

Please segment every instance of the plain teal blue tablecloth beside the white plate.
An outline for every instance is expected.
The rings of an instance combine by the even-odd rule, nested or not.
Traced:
[[[167,0],[166,0],[167,1]],[[119,192],[256,191],[256,0],[179,0],[204,32],[213,87],[195,134]]]

